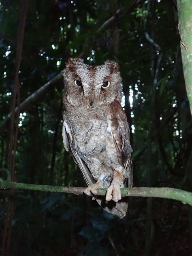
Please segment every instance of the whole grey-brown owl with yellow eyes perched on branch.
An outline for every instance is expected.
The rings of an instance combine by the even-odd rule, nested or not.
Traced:
[[[70,58],[64,76],[62,138],[87,183],[85,194],[107,188],[93,197],[109,213],[123,218],[128,202],[120,188],[132,187],[130,130],[121,107],[122,78],[117,62],[104,65]]]

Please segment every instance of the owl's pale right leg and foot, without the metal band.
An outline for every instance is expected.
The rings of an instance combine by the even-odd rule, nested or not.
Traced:
[[[124,180],[123,174],[119,171],[114,171],[113,181],[111,182],[111,185],[107,189],[107,194],[105,198],[106,201],[113,200],[114,202],[118,202],[119,200],[122,199],[120,185],[123,182],[123,180]]]

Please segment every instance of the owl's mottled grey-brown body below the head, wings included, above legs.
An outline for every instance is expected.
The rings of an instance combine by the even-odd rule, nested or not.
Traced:
[[[130,130],[119,101],[97,108],[78,109],[73,113],[70,111],[73,109],[64,113],[63,139],[66,150],[71,148],[76,162],[79,163],[77,158],[81,158],[87,166],[92,165],[89,167],[92,174],[95,169],[91,164],[93,161],[100,171],[105,166],[111,171],[118,165],[123,166],[124,176],[129,176],[128,173],[132,172]],[[85,117],[83,119],[82,113]],[[98,171],[94,175],[97,180],[96,176],[99,176]],[[128,186],[131,183],[129,181]]]

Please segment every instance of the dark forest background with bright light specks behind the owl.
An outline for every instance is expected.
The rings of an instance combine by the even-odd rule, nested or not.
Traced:
[[[17,182],[85,186],[62,142],[60,72],[70,56],[87,64],[111,59],[123,78],[134,186],[192,191],[176,1],[26,2],[0,1],[1,171]],[[7,119],[15,106],[20,114]],[[119,220],[85,195],[7,189],[0,191],[0,241],[0,254],[13,256],[191,256],[192,209],[132,197]]]

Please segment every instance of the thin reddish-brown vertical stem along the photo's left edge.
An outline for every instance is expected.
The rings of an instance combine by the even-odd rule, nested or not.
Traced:
[[[24,31],[25,31],[27,10],[28,10],[28,0],[23,0],[22,6],[21,6],[21,15],[19,19],[19,26],[17,28],[15,79],[14,79],[13,95],[12,95],[12,102],[11,102],[10,141],[9,141],[9,170],[11,173],[11,181],[16,181],[15,156],[16,156],[16,149],[17,149],[17,137],[18,137],[18,131],[19,131],[18,129],[19,111],[20,111],[19,69],[21,64],[21,55],[22,55],[22,48],[23,48],[23,37],[24,37]],[[16,114],[16,124],[15,124],[16,102],[17,102],[18,111]],[[15,124],[15,129],[14,129],[14,124]],[[14,206],[15,206],[15,189],[11,188],[8,208],[6,211],[6,216],[4,221],[4,231],[2,236],[1,254],[3,256],[10,255]]]

